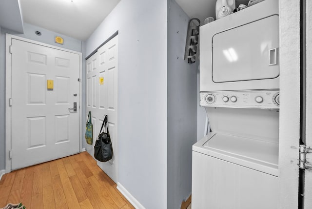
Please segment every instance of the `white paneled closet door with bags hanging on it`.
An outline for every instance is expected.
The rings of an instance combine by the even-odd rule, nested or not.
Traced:
[[[117,182],[117,55],[118,36],[104,44],[90,57],[87,64],[87,114],[91,111],[93,124],[93,146],[103,123],[108,115],[109,133],[112,139],[114,156],[98,166]],[[87,145],[87,151],[93,156],[94,147]]]

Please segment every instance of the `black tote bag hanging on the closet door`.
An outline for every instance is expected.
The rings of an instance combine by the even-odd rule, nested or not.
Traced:
[[[113,146],[108,132],[107,115],[105,115],[97,137],[96,145],[94,146],[94,157],[100,162],[107,162],[113,158]]]

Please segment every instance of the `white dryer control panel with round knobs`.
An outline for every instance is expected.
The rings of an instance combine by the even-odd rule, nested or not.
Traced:
[[[279,89],[200,92],[200,106],[279,109]]]

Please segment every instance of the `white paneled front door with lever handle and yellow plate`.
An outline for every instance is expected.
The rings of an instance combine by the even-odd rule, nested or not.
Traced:
[[[11,169],[78,153],[79,54],[17,39],[11,45]]]

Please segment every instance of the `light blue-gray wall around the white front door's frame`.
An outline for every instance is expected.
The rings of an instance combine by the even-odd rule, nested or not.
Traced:
[[[41,36],[37,36],[35,31],[40,31]],[[24,34],[17,34],[14,31],[1,28],[0,30],[0,170],[5,169],[5,33],[20,36],[23,38],[31,39],[38,42],[43,42],[66,49],[81,52],[81,41],[61,35],[31,24],[24,23]],[[64,44],[60,45],[54,42],[55,36],[61,36],[64,39]],[[85,72],[85,64],[82,65]],[[82,102],[83,103],[83,102]],[[83,103],[84,104],[84,103]],[[83,116],[85,115],[82,113]],[[84,127],[85,119],[82,121],[82,127]],[[84,131],[85,128],[82,128]],[[85,147],[85,140],[82,137],[82,147]]]

